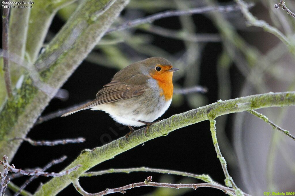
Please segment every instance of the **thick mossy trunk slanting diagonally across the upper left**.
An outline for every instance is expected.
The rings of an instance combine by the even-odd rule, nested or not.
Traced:
[[[112,6],[109,0],[86,0],[80,4],[35,63],[40,80],[50,91],[44,93],[38,89],[29,73],[25,73],[21,88],[15,89],[16,95],[1,107],[0,155],[6,154],[9,161],[14,157],[21,141],[11,139],[27,135],[60,86],[94,48],[128,1],[117,0]]]

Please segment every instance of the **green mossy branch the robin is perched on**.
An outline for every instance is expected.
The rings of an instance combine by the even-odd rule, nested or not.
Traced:
[[[221,115],[251,109],[283,107],[288,105],[295,105],[295,91],[282,93],[271,92],[218,101],[194,110],[173,115],[170,118],[150,125],[147,136],[145,136],[144,133],[145,128],[142,128],[132,133],[128,138],[129,141],[127,141],[125,137],[122,137],[101,147],[92,150],[84,150],[75,161],[65,168],[65,170],[67,170],[68,168],[81,164],[82,166],[77,171],[72,172],[70,175],[58,178],[54,177],[52,180],[44,184],[35,195],[56,195],[73,180],[76,180],[84,172],[95,165],[114,158],[114,156],[147,142],[148,140],[165,136],[173,130],[208,120],[208,116],[216,118]]]

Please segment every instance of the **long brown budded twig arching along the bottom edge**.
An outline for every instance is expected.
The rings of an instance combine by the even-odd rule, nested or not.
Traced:
[[[149,176],[144,182],[133,183],[130,185],[126,185],[126,186],[114,188],[114,189],[106,189],[106,190],[98,192],[98,193],[88,193],[85,190],[83,190],[83,188],[79,184],[78,179],[73,180],[73,185],[76,188],[76,190],[84,196],[101,196],[101,195],[111,194],[111,193],[115,193],[115,192],[125,193],[125,190],[132,189],[135,187],[143,187],[143,186],[165,187],[165,188],[175,188],[175,189],[193,188],[195,190],[199,187],[211,187],[211,188],[216,188],[216,189],[222,190],[225,193],[230,193],[230,194],[235,193],[235,190],[232,188],[221,186],[221,185],[216,185],[216,184],[212,184],[212,183],[170,184],[170,183],[152,182],[151,176]]]

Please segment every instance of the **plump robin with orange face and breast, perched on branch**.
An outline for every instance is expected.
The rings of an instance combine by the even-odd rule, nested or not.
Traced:
[[[62,116],[86,109],[102,110],[118,123],[127,125],[132,133],[132,126],[153,124],[169,108],[173,95],[172,76],[178,70],[161,57],[132,63],[117,72],[93,101]]]

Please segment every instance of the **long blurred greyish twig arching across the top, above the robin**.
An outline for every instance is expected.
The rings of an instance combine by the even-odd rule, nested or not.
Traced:
[[[253,4],[247,4],[247,7],[252,7]],[[171,11],[164,11],[157,14],[153,14],[147,17],[143,17],[140,19],[135,19],[129,22],[126,22],[122,25],[117,27],[111,28],[106,33],[110,33],[112,31],[121,31],[124,29],[131,28],[133,26],[144,24],[144,23],[152,23],[155,20],[172,17],[172,16],[182,16],[182,15],[192,15],[192,14],[202,14],[209,11],[219,11],[219,12],[230,12],[230,11],[237,11],[240,8],[237,5],[229,5],[229,6],[204,6],[199,8],[193,8],[189,10],[171,10]]]

